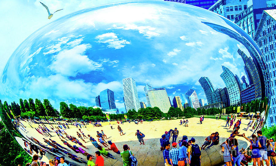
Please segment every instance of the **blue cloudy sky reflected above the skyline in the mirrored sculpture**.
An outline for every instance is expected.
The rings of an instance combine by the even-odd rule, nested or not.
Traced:
[[[89,3],[69,2],[49,6],[53,11],[67,6],[52,18]],[[146,102],[146,83],[165,87],[172,101],[190,88],[205,98],[198,83],[201,76],[209,77],[215,88],[225,87],[221,65],[240,78],[245,75],[237,50],[249,55],[246,48],[201,23],[232,29],[208,10],[171,2],[137,3],[83,10],[55,21],[47,20],[39,2],[28,3],[42,9],[38,18],[42,25],[51,24],[36,31],[14,53],[4,73],[3,100],[48,98],[55,107],[61,101],[91,106],[95,96],[109,88],[116,106],[124,111],[122,79],[127,77],[136,81],[139,99]]]

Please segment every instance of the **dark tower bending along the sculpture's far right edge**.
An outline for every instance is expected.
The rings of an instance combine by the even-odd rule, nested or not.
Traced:
[[[255,86],[255,98],[262,98],[261,80],[260,80],[259,72],[256,65],[254,64],[251,57],[246,56],[245,53],[240,49],[238,49],[238,53],[243,58],[245,69],[248,74],[247,77],[248,76],[250,77],[251,81]]]

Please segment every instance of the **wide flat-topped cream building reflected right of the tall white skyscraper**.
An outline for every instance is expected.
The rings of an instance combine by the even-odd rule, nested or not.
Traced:
[[[171,103],[165,88],[155,88],[148,91],[148,98],[151,107],[158,107],[162,112],[167,113],[171,107]]]

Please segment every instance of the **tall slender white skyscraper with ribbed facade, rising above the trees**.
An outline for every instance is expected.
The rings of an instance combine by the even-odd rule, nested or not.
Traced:
[[[126,110],[136,110],[138,111],[140,106],[140,101],[138,98],[138,92],[136,89],[136,83],[132,78],[123,79],[123,91],[125,99]]]

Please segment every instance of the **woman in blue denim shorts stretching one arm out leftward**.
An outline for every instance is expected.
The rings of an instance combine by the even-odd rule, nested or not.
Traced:
[[[244,133],[243,133],[243,137],[251,143],[251,146],[252,146],[251,158],[253,158],[253,166],[256,166],[256,162],[257,162],[258,166],[260,166],[261,165],[261,163],[260,163],[260,158],[261,158],[260,141],[258,140],[258,138],[255,134],[252,134],[252,136],[251,136],[252,139],[245,137]]]

